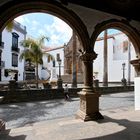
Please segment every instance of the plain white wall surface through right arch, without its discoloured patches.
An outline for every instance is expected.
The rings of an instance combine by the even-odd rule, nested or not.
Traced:
[[[108,39],[108,81],[109,82],[120,82],[123,75],[122,63],[126,64],[125,67],[125,78],[128,79],[128,51],[126,53],[119,52],[116,54],[116,59],[113,57],[113,45],[122,47],[121,44],[124,40],[128,40],[125,34],[115,35],[113,38]],[[93,63],[93,71],[98,72],[98,79],[103,81],[103,40],[96,41],[95,52],[98,54],[97,59]],[[131,60],[136,58],[134,47],[131,44]],[[135,71],[131,65],[131,81],[134,81]]]

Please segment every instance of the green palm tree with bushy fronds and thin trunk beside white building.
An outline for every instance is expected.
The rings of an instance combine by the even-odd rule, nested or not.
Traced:
[[[41,36],[38,39],[32,39],[28,38],[26,40],[23,40],[20,42],[21,46],[23,46],[25,49],[20,55],[20,60],[25,59],[30,60],[35,65],[36,69],[36,85],[38,88],[38,66],[39,64],[43,64],[43,56],[48,57],[48,61],[54,60],[54,57],[49,54],[49,53],[44,53],[43,52],[43,47],[44,47],[44,41],[45,39],[49,40],[48,37]]]

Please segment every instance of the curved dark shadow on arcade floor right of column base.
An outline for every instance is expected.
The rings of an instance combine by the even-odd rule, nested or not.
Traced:
[[[80,140],[140,140],[140,121],[130,121],[127,119],[117,120],[108,116],[104,116],[104,118],[104,120],[100,120],[98,123],[112,122],[118,124],[119,126],[123,126],[125,129],[104,136]]]

